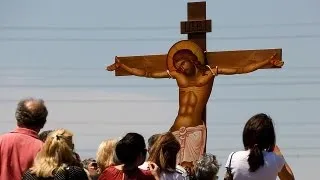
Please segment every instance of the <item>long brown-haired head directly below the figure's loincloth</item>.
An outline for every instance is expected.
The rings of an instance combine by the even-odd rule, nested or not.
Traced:
[[[176,169],[179,150],[178,140],[171,132],[167,132],[152,146],[148,160],[156,163],[160,171],[172,171]]]

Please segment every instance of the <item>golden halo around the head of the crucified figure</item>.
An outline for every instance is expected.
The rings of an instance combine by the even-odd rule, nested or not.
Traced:
[[[188,49],[188,50],[192,51],[193,54],[197,56],[198,61],[203,65],[205,64],[203,50],[196,43],[194,43],[191,40],[182,40],[182,41],[178,41],[177,43],[175,43],[169,49],[169,52],[167,54],[167,67],[168,67],[169,71],[176,70],[176,68],[174,67],[174,64],[173,64],[173,56],[177,51],[182,50],[182,49]]]

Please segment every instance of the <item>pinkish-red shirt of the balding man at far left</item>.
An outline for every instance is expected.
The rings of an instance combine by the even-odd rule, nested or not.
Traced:
[[[43,142],[36,131],[17,128],[0,136],[0,180],[21,180]]]

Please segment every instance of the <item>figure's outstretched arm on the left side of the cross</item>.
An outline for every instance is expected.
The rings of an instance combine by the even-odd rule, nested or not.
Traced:
[[[149,77],[149,78],[173,78],[173,75],[167,71],[163,72],[148,72],[143,69],[132,68],[125,64],[122,64],[120,60],[116,57],[116,62],[106,68],[108,71],[114,71],[118,68],[122,68],[129,72],[132,75],[140,76],[140,77]]]

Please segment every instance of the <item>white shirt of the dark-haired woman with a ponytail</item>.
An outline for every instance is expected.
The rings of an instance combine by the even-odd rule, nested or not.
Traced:
[[[264,166],[255,172],[249,171],[248,156],[250,151],[237,151],[231,159],[231,169],[234,180],[276,180],[278,173],[285,164],[283,156],[273,152],[263,152]],[[231,153],[232,154],[232,153]],[[229,166],[230,156],[225,167]]]

